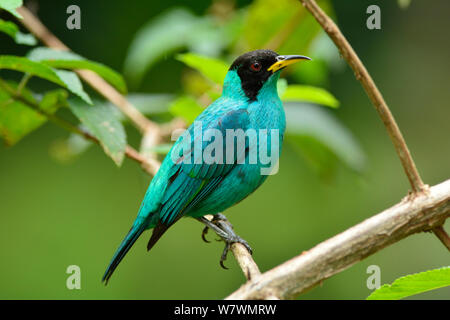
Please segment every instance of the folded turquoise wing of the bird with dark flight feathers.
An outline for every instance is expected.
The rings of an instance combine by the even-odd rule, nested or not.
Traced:
[[[202,141],[201,150],[194,147],[194,140],[201,139],[199,136],[191,135],[191,145],[188,152],[191,154],[191,162],[174,163],[168,179],[168,185],[162,195],[159,207],[159,221],[155,226],[152,237],[147,248],[150,249],[162,234],[181,216],[186,214],[202,199],[207,197],[217,188],[220,182],[232,170],[236,163],[237,152],[234,152],[234,163],[225,163],[225,134],[227,129],[247,130],[249,127],[249,115],[245,109],[237,109],[223,113],[221,116],[208,121],[203,126],[203,132],[207,129],[216,129],[221,132],[223,137],[223,160],[221,163],[195,163],[196,157],[202,157],[205,148],[212,142]],[[189,131],[193,132],[192,126]],[[177,143],[181,143],[180,140]],[[247,143],[247,142],[246,142]],[[199,152],[201,151],[201,154]],[[182,150],[179,151],[181,155]],[[181,158],[180,158],[181,159]],[[203,158],[199,158],[203,159]]]

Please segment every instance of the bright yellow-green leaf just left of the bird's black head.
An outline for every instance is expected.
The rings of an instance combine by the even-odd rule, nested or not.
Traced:
[[[228,72],[228,65],[220,59],[195,53],[179,54],[176,58],[219,85],[223,84],[223,79]]]

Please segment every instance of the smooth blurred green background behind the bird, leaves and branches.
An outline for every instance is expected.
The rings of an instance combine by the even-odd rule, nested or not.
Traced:
[[[74,3],[81,8],[82,29],[71,31],[65,27],[66,8]],[[118,71],[123,71],[132,38],[152,17],[177,6],[202,15],[211,6],[204,0],[31,4],[38,5],[41,20],[71,49]],[[246,7],[251,1],[235,4]],[[433,185],[449,178],[450,3],[413,0],[406,10],[387,0],[332,4],[339,26],[396,117],[424,181]],[[381,30],[366,28],[370,4],[381,8]],[[23,55],[29,49],[4,39],[1,54]],[[167,56],[135,91],[179,93],[183,69],[181,62]],[[330,69],[327,79],[327,89],[341,103],[332,112],[360,143],[366,168],[355,173],[338,165],[332,178],[323,179],[286,145],[279,173],[225,212],[254,248],[262,271],[392,206],[408,191],[387,133],[351,70],[346,65]],[[130,143],[137,145],[135,130],[127,132]],[[69,164],[56,162],[49,148],[67,135],[49,123],[11,148],[0,146],[0,298],[221,299],[245,281],[231,256],[226,262],[230,270],[220,268],[223,243],[205,244],[202,226],[182,219],[150,254],[145,249],[150,234],[141,237],[110,284],[102,285],[101,276],[150,178],[130,160],[117,168],[97,147]],[[372,264],[380,266],[381,282],[391,283],[449,262],[448,252],[432,234],[417,234],[333,276],[300,299],[364,299],[371,292],[366,269]],[[66,288],[66,268],[73,264],[81,268],[81,290]],[[448,299],[450,288],[414,298]]]

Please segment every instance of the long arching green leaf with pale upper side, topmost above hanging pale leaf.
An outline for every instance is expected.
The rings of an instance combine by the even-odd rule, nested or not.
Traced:
[[[71,70],[87,69],[94,71],[120,92],[127,92],[125,81],[119,73],[101,63],[87,60],[73,52],[39,47],[31,50],[27,57],[30,60],[42,62],[53,68]]]

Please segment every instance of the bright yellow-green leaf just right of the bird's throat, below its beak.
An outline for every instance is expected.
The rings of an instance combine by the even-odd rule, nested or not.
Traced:
[[[303,85],[289,85],[281,95],[283,101],[300,101],[337,108],[339,101],[328,91]]]

